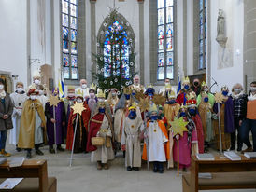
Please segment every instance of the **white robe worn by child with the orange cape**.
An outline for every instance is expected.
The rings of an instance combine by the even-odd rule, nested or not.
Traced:
[[[164,136],[164,133],[158,126],[158,122],[157,121],[150,122],[149,123],[149,162],[166,161],[164,143],[167,141],[168,139]]]

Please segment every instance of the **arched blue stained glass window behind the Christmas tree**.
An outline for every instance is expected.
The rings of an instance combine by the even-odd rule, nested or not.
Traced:
[[[107,78],[111,76],[111,74],[113,74],[118,76],[121,75],[122,78],[129,79],[129,53],[131,51],[131,42],[127,40],[126,31],[123,30],[123,26],[119,23],[119,21],[114,21],[113,24],[108,27],[105,36],[104,76]],[[114,36],[116,36],[116,39],[114,39]],[[123,43],[121,48],[120,45],[117,43],[119,40],[122,40]],[[116,58],[116,62],[112,62],[112,57]]]

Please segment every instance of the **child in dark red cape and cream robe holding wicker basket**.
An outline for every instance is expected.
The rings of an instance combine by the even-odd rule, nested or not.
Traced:
[[[112,137],[112,122],[110,114],[106,111],[106,103],[99,102],[96,108],[95,115],[90,121],[90,130],[87,142],[87,151],[91,151],[92,162],[97,162],[97,169],[107,170],[109,168],[108,161],[114,159],[114,151],[111,143]],[[92,137],[104,138],[104,144],[101,146],[92,145]]]

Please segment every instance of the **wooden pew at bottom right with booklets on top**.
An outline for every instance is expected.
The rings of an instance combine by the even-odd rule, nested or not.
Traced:
[[[216,156],[208,161],[193,156],[191,171],[182,175],[183,192],[256,188],[256,159],[241,157],[242,160],[232,161]],[[199,172],[210,172],[212,179],[199,179]]]

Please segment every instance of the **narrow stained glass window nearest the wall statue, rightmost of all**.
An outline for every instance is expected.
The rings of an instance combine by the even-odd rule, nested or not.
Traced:
[[[206,68],[207,58],[207,8],[206,0],[199,1],[199,70]]]

